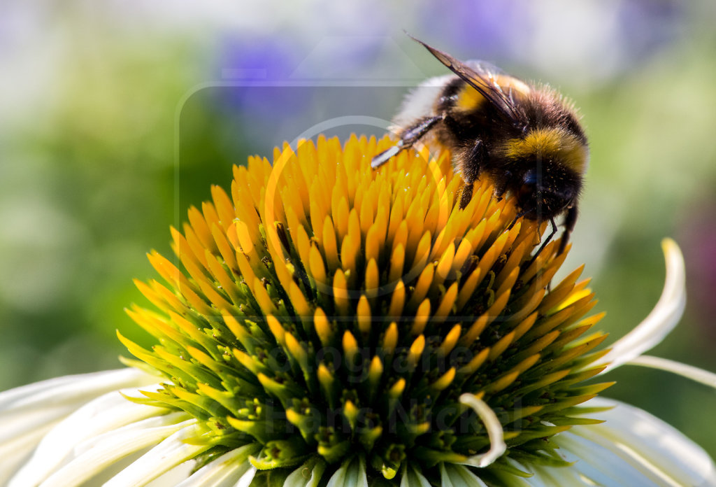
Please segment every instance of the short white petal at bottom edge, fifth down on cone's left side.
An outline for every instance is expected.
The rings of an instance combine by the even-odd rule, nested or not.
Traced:
[[[248,461],[248,455],[260,449],[260,445],[251,443],[231,450],[200,468],[176,487],[248,487],[256,474],[256,468]]]

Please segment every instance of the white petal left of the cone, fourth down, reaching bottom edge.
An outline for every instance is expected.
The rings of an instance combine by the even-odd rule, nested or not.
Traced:
[[[132,463],[110,481],[104,487],[141,487],[153,481],[163,473],[181,465],[185,461],[194,458],[203,452],[208,445],[191,445],[185,440],[194,438],[199,430],[195,424],[196,420],[188,420],[181,425],[186,425],[169,438],[166,438],[137,461]],[[59,486],[58,486],[59,487]]]

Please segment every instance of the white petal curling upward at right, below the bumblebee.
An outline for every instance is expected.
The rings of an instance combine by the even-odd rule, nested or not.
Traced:
[[[659,344],[676,327],[684,312],[686,305],[684,256],[671,238],[664,238],[662,249],[666,260],[667,276],[659,302],[644,321],[617,340],[609,353],[599,360],[600,364],[607,365],[604,372],[639,357]]]

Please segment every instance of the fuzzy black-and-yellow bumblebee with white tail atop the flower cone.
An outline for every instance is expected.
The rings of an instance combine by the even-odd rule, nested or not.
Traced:
[[[538,253],[557,232],[556,216],[565,215],[561,254],[576,223],[589,164],[586,136],[571,102],[548,86],[530,85],[485,62],[460,62],[415,41],[453,74],[428,79],[406,97],[393,120],[398,142],[376,155],[372,167],[418,141],[447,148],[465,182],[460,207],[470,203],[473,182],[485,176],[495,197],[513,193],[517,218],[551,222]]]

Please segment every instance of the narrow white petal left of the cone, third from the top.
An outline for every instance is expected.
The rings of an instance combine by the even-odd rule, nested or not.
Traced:
[[[147,418],[126,425],[117,430],[109,431],[95,438],[80,443],[75,448],[76,456],[66,463],[59,470],[54,471],[47,478],[42,487],[69,487],[77,486],[92,476],[102,473],[106,468],[112,468],[122,458],[132,453],[143,450],[151,445],[161,445],[169,438],[180,435],[185,431],[193,431],[196,420],[187,420],[187,413],[170,413],[168,415]],[[168,438],[169,437],[169,438]],[[155,447],[156,448],[156,447]],[[152,450],[150,450],[151,453]],[[148,455],[149,453],[145,454]],[[142,457],[143,458],[143,457]],[[141,458],[140,458],[141,460]],[[135,462],[136,463],[136,462]],[[173,463],[171,466],[181,462]],[[134,465],[134,463],[132,463]],[[147,481],[159,476],[170,467],[161,469],[160,461],[157,465],[145,472]],[[127,469],[125,469],[126,471]],[[11,487],[29,487],[35,484],[24,484],[13,482]],[[126,484],[131,485],[130,483]]]

